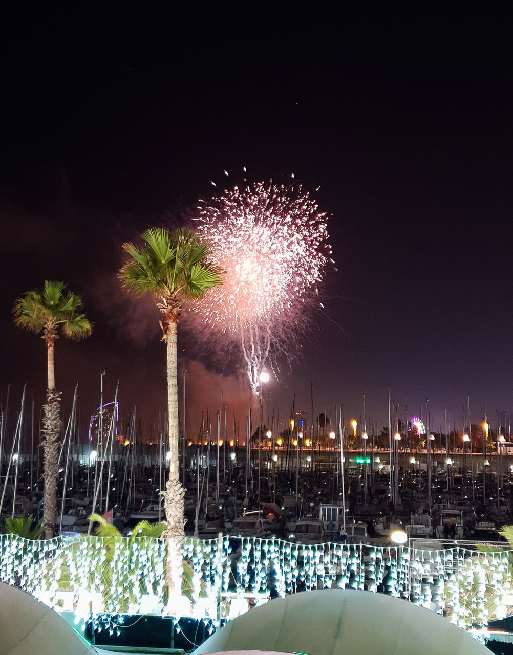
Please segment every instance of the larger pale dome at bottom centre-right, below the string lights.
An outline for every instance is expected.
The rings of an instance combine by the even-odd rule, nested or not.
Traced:
[[[250,610],[194,653],[275,651],[305,655],[486,655],[439,614],[381,593],[320,589]]]

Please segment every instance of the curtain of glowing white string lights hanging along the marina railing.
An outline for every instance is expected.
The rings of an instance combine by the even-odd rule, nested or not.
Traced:
[[[0,580],[57,610],[166,614],[166,542],[79,535],[45,541],[0,535]],[[181,613],[232,618],[248,603],[296,591],[366,589],[430,607],[468,627],[513,606],[513,552],[420,550],[279,539],[185,539]]]

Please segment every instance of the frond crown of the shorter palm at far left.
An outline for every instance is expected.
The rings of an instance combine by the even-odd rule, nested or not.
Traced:
[[[27,291],[14,303],[14,323],[36,334],[48,326],[60,326],[69,339],[79,341],[92,331],[90,322],[81,313],[81,297],[66,291],[64,282],[45,280],[43,289]]]

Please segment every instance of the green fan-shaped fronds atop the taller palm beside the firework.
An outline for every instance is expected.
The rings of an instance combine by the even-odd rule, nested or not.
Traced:
[[[210,246],[190,230],[169,232],[155,227],[143,232],[141,238],[145,243],[142,249],[123,244],[130,259],[119,272],[124,288],[136,295],[197,299],[221,284],[221,269],[208,261]]]

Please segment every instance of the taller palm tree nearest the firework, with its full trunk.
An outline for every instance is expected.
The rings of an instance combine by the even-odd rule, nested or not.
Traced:
[[[170,232],[162,228],[146,230],[141,235],[142,249],[132,243],[123,244],[129,259],[119,272],[124,288],[143,296],[149,293],[162,312],[162,341],[166,342],[168,384],[168,442],[170,450],[169,479],[162,491],[166,512],[168,543],[166,584],[169,596],[181,588],[183,544],[183,496],[185,489],[178,472],[178,383],[176,379],[176,326],[182,304],[200,299],[204,292],[222,281],[222,271],[209,257],[210,246],[188,229]]]

